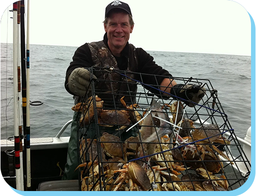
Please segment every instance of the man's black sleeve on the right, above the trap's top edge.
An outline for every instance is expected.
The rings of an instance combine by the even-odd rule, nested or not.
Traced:
[[[163,67],[156,64],[153,56],[151,56],[144,49],[137,48],[136,54],[138,58],[138,72],[143,74],[154,75],[154,76],[145,75],[145,77],[142,77],[142,80],[143,80],[142,82],[144,84],[149,84],[155,88],[158,88],[158,86],[160,86],[164,78],[172,77],[169,71],[167,71],[166,69],[163,69]],[[155,94],[160,93],[156,89],[152,89],[147,86],[145,86],[145,88],[151,91],[152,93],[155,93]]]

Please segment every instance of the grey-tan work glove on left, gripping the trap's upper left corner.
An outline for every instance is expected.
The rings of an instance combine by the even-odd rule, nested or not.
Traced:
[[[96,76],[92,76],[97,79]],[[74,69],[69,77],[69,90],[78,96],[84,96],[87,89],[90,87],[90,71],[85,68],[79,67]]]

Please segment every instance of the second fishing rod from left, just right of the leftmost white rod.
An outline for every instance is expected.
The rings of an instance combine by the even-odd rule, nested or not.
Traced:
[[[21,122],[21,83],[20,83],[20,0],[17,1],[17,74],[18,74],[18,125],[19,125],[19,157],[20,157],[20,191],[24,191],[23,179],[23,147],[22,147],[22,122]]]

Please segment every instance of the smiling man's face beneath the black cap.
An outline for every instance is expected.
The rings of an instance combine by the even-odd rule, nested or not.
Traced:
[[[130,26],[128,13],[111,13],[107,25],[104,24],[104,29],[107,33],[108,46],[113,51],[125,47],[133,26]]]

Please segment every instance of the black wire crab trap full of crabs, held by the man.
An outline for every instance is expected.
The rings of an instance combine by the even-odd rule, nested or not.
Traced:
[[[246,182],[250,161],[209,80],[169,77],[205,88],[188,107],[159,91],[163,76],[90,71],[98,79],[73,107],[81,191],[231,191]]]

